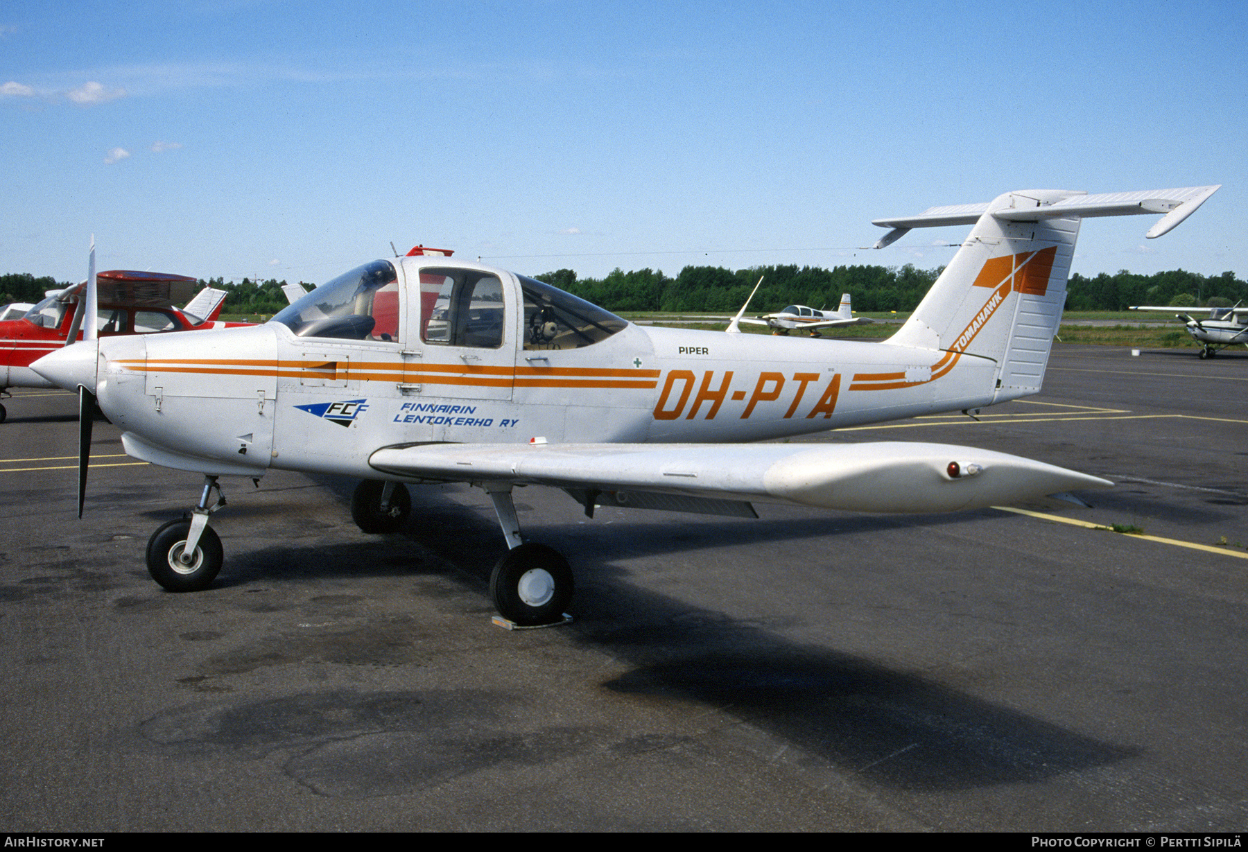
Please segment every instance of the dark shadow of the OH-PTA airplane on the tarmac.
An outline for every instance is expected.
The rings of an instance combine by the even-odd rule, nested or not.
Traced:
[[[322,482],[349,503],[349,483]],[[444,565],[451,564],[461,569],[452,580],[482,590],[489,564],[504,546],[489,510],[466,506],[437,489],[413,491],[412,523],[402,536],[317,548],[287,544],[241,554],[230,560],[218,584],[248,584],[261,576],[265,583],[281,583],[343,571],[444,574]],[[518,508],[523,513],[523,503]],[[956,524],[957,519],[947,515],[936,520]],[[930,524],[932,519],[921,521]],[[721,546],[729,528],[734,541],[765,543],[837,530],[882,533],[910,523],[920,519],[811,519],[805,531],[791,520],[711,521],[689,525],[679,535],[663,525],[668,534],[654,544],[646,541],[646,524],[604,525],[595,534],[620,540],[604,541],[592,553],[575,553],[583,591],[575,605],[578,620],[563,630],[575,644],[635,666],[603,684],[607,690],[721,710],[831,767],[897,790],[1030,783],[1137,756],[1136,748],[1065,730],[917,674],[792,642],[756,621],[691,606],[630,583],[630,571],[610,561],[617,554],[613,548],[625,546],[623,539],[631,543],[628,555],[633,558],[670,553],[674,546]],[[560,539],[584,529],[534,525],[534,534],[582,551],[583,543],[578,546]],[[437,564],[428,569],[421,561],[413,564],[419,549],[438,556]],[[487,610],[488,603],[482,604]],[[680,748],[679,740],[655,735],[615,747]]]

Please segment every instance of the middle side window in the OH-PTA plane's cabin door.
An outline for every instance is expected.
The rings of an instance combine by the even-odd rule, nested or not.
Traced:
[[[442,346],[503,346],[503,282],[477,269],[421,271],[421,339]]]

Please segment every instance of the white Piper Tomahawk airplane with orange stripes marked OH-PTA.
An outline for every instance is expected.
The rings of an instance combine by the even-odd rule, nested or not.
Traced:
[[[748,442],[1038,392],[1081,218],[1162,212],[1159,236],[1214,190],[1010,192],[877,222],[894,228],[882,243],[975,225],[884,343],[641,327],[524,276],[408,256],[351,269],[265,326],[84,342],[37,369],[81,389],[80,514],[92,400],[130,455],[203,474],[191,518],[147,545],[166,589],[202,589],[221,568],[208,526],[218,477],[359,477],[352,514],[372,533],[403,526],[403,483],[470,483],[510,548],[490,579],[499,612],[544,624],[563,614],[573,575],[522,538],[522,485],[562,488],[590,516],[602,505],[754,516],[756,500],[945,511],[1109,485],[970,447]]]

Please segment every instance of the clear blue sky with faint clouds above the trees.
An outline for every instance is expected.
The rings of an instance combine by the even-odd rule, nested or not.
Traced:
[[[1248,276],[1248,4],[0,5],[0,272],[946,263],[872,218],[1223,183],[1075,271]]]

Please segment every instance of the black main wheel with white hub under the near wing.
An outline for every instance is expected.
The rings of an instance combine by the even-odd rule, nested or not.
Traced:
[[[499,615],[523,625],[557,621],[573,590],[568,560],[544,544],[508,550],[489,576],[489,595]]]

